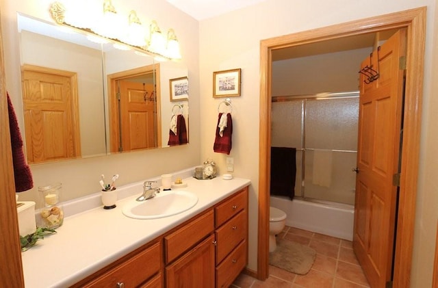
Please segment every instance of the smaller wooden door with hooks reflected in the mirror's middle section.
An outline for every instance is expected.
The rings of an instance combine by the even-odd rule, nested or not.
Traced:
[[[153,84],[119,81],[121,150],[157,147]]]

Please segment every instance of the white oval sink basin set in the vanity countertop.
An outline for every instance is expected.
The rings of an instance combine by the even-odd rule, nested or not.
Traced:
[[[127,203],[122,212],[135,219],[157,219],[176,215],[194,207],[198,197],[186,191],[162,191],[157,196],[144,201],[135,199]]]

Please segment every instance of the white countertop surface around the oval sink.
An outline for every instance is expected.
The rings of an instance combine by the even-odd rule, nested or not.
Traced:
[[[103,206],[68,215],[64,208],[64,224],[57,233],[47,235],[36,246],[22,252],[25,287],[67,287],[93,274],[125,254],[185,222],[250,184],[248,179],[211,180],[183,179],[188,187],[181,188],[198,196],[192,209],[166,218],[137,220],[123,215],[125,203],[142,194],[142,181],[118,187],[117,207]],[[166,193],[162,191],[161,193]],[[88,202],[100,203],[100,194]],[[84,203],[88,199],[82,198]],[[88,204],[90,205],[90,204]],[[83,206],[83,205],[82,205]]]

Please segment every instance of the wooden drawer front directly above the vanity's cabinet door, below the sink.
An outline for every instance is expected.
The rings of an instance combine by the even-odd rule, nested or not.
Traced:
[[[186,250],[195,246],[214,231],[214,211],[210,209],[199,218],[190,220],[182,228],[164,237],[166,264],[175,260]]]

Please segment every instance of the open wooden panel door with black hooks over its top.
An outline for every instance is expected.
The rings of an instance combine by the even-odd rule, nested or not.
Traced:
[[[379,73],[371,82],[365,75],[360,77],[353,235],[355,253],[371,287],[385,287],[391,280],[398,193],[393,176],[400,157],[405,33],[398,31],[361,64],[365,68],[371,63]]]

